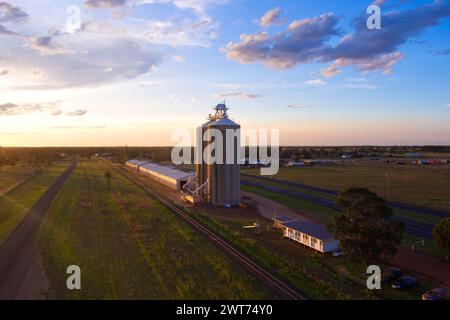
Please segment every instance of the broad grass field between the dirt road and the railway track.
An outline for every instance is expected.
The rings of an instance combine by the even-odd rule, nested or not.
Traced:
[[[108,191],[104,173],[113,172]],[[128,179],[81,161],[38,240],[50,298],[266,299],[272,292]],[[66,288],[81,268],[82,289]]]

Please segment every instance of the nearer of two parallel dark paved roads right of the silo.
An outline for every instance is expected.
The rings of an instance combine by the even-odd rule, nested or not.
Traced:
[[[298,192],[298,191],[285,190],[285,189],[278,188],[278,187],[275,187],[272,185],[264,184],[262,182],[256,182],[256,181],[250,181],[250,180],[242,180],[241,184],[247,185],[247,186],[258,187],[258,188],[265,189],[267,191],[276,192],[276,193],[279,193],[279,194],[282,194],[282,195],[285,195],[288,197],[306,200],[306,201],[312,202],[314,204],[317,204],[317,205],[320,205],[320,206],[323,206],[326,208],[339,210],[333,200],[324,199],[319,196],[310,195],[310,194],[302,193],[302,192]],[[419,221],[401,217],[398,215],[394,215],[394,218],[396,220],[402,221],[404,223],[405,231],[407,233],[417,236],[417,237],[425,238],[428,240],[433,240],[432,230],[433,230],[434,226],[432,224],[419,222]]]

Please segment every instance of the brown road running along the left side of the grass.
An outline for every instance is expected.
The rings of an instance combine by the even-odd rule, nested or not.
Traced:
[[[0,300],[39,299],[46,290],[35,240],[45,212],[76,165],[72,162],[0,246]]]

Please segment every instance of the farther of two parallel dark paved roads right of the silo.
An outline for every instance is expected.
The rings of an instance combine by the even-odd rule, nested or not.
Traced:
[[[303,189],[306,189],[306,190],[321,192],[321,193],[325,193],[325,194],[332,195],[332,196],[337,196],[339,194],[339,192],[336,191],[336,190],[326,189],[326,188],[321,188],[321,187],[315,187],[315,186],[311,186],[311,185],[307,185],[307,184],[303,184],[303,183],[298,183],[298,182],[293,182],[293,181],[278,180],[278,179],[272,179],[272,178],[268,178],[268,177],[261,177],[261,176],[249,175],[249,174],[242,174],[242,176],[243,177],[248,177],[248,178],[259,179],[259,180],[262,180],[262,181],[272,181],[272,182],[276,182],[276,183],[280,183],[280,184],[284,184],[284,185],[289,185],[289,186],[293,186],[293,187],[303,188]],[[445,210],[426,208],[426,207],[416,206],[416,205],[412,205],[412,204],[408,204],[408,203],[402,203],[402,202],[398,202],[398,201],[386,201],[386,203],[390,207],[395,208],[395,209],[412,211],[412,212],[415,212],[415,213],[435,216],[435,217],[438,217],[438,218],[448,218],[448,217],[450,217],[450,212],[449,211],[445,211]]]

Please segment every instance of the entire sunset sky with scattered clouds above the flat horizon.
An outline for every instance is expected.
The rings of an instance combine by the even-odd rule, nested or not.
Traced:
[[[450,145],[448,0],[0,0],[0,48],[1,146],[173,145],[223,100],[282,145]]]

